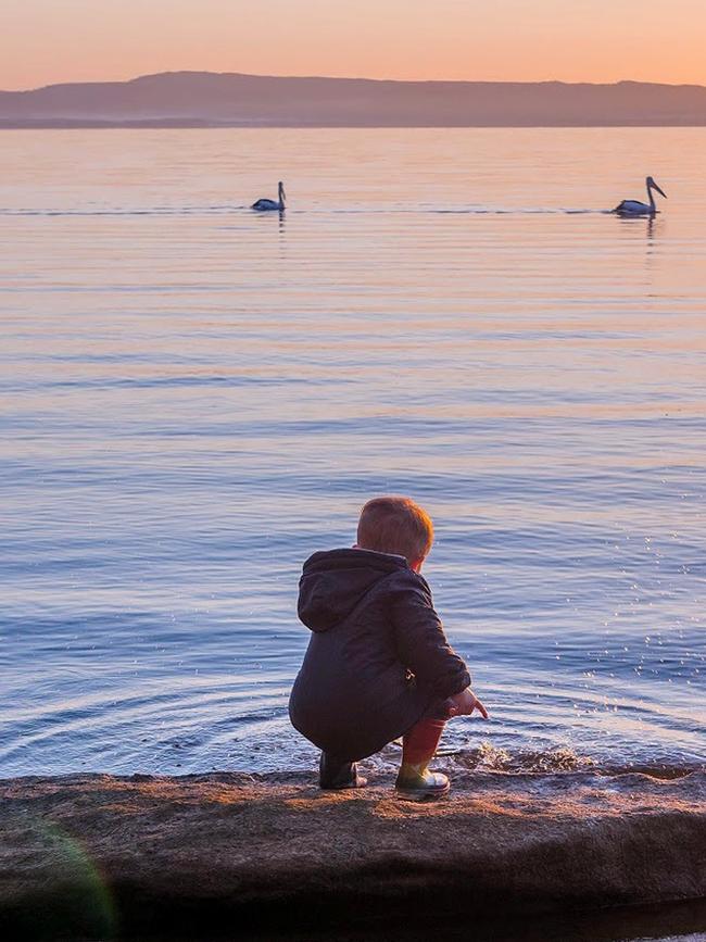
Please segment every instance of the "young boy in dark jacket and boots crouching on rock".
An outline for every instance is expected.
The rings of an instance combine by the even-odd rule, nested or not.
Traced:
[[[365,786],[356,761],[402,736],[400,796],[444,795],[449,779],[428,763],[446,719],[475,709],[488,719],[419,575],[432,541],[431,520],[414,501],[375,498],[353,549],[304,563],[298,611],[312,637],[289,715],[322,750],[324,789]]]

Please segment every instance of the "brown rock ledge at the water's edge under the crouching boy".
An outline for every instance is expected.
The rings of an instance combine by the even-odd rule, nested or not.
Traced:
[[[677,901],[706,919],[706,771],[467,773],[432,804],[390,777],[320,792],[301,774],[31,777],[0,796],[4,938],[383,939],[441,913]]]

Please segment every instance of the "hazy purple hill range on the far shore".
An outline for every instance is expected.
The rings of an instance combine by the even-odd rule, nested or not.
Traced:
[[[166,72],[131,81],[0,91],[0,127],[601,125],[706,125],[706,88]]]

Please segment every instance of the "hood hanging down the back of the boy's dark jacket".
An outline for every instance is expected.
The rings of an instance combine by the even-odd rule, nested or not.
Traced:
[[[304,563],[297,611],[312,631],[339,625],[378,582],[409,566],[404,556],[373,550],[329,550]]]

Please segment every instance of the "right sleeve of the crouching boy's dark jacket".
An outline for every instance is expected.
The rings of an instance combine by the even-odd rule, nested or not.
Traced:
[[[468,668],[446,640],[426,582],[406,581],[393,590],[390,603],[398,655],[417,682],[440,699],[465,690]]]

